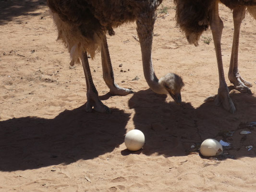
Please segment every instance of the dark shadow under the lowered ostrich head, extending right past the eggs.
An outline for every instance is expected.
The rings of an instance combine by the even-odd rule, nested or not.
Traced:
[[[246,127],[244,122],[256,121],[256,97],[231,93],[237,109],[235,114],[215,106],[214,102],[202,101],[201,106],[194,108],[191,103],[183,102],[178,106],[172,100],[167,102],[166,98],[148,89],[135,93],[129,100],[129,107],[135,110],[135,129],[144,132],[146,138],[140,153],[187,156],[192,145],[199,147],[203,140],[215,138],[232,144],[232,147],[224,148],[229,154],[227,157],[256,156],[255,149],[245,149],[246,145],[256,143],[256,132],[247,136],[239,134],[241,129],[254,129]],[[232,131],[233,135],[228,136]],[[128,154],[122,152],[122,155]]]

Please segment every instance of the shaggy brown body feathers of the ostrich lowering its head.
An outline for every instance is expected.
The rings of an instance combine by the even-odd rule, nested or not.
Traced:
[[[133,22],[139,14],[156,10],[162,0],[47,0],[58,29],[58,39],[68,48],[71,65],[79,53],[93,58],[102,36],[114,34],[113,28]]]

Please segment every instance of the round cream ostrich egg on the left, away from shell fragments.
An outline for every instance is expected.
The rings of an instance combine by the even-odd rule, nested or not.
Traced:
[[[145,143],[145,136],[140,130],[134,129],[126,133],[124,144],[130,151],[138,151]]]

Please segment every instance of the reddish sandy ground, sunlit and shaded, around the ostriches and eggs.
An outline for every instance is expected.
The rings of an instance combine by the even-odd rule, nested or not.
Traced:
[[[152,59],[158,77],[183,77],[183,105],[148,89],[131,23],[108,43],[116,82],[134,94],[108,94],[100,55],[89,59],[100,98],[112,110],[107,115],[85,112],[83,68],[69,66],[45,1],[0,0],[0,192],[256,192],[256,127],[243,124],[256,121],[256,21],[246,13],[239,47],[240,73],[254,94],[233,91],[230,114],[203,102],[219,87],[213,41],[204,42],[211,31],[198,47],[189,45],[175,26],[173,0],[163,6],[169,15],[158,14]],[[228,80],[232,12],[220,5],[220,16]],[[144,132],[146,144],[131,153],[124,135],[133,129]],[[196,149],[207,138],[232,147],[203,158]]]

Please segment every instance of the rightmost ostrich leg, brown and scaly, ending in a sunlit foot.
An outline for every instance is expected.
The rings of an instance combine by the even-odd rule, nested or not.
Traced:
[[[252,94],[249,87],[252,86],[251,83],[245,81],[239,74],[238,70],[238,46],[239,46],[239,33],[240,26],[245,17],[246,7],[241,6],[233,9],[233,21],[234,21],[234,36],[232,44],[232,53],[229,68],[229,80],[234,84],[234,89],[240,91],[241,93]]]

